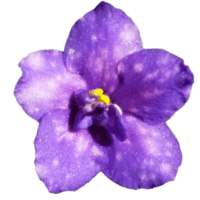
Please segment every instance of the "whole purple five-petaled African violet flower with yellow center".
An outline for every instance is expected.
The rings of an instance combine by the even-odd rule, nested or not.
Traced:
[[[73,25],[64,51],[21,59],[14,95],[37,122],[35,170],[50,193],[76,191],[102,172],[138,190],[174,181],[179,142],[165,123],[189,100],[184,60],[145,49],[126,13],[100,2]]]

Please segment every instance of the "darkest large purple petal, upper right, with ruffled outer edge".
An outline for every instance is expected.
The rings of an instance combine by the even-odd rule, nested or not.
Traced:
[[[189,100],[194,84],[184,60],[164,49],[145,49],[118,66],[121,84],[112,97],[123,111],[149,124],[168,121]]]

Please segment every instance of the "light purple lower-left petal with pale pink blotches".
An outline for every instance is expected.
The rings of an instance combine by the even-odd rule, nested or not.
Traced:
[[[69,112],[54,110],[42,118],[35,140],[35,170],[50,193],[76,191],[100,172],[105,157],[86,131],[68,131]]]

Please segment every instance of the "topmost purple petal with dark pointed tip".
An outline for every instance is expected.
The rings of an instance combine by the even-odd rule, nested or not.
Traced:
[[[116,63],[143,49],[140,31],[126,13],[100,2],[78,19],[65,43],[67,69],[80,73],[91,89],[112,90],[116,84]]]

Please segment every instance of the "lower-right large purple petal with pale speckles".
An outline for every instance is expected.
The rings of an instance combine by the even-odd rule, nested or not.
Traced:
[[[182,164],[182,152],[167,124],[152,126],[126,116],[129,138],[115,140],[110,161],[102,173],[121,187],[152,189],[175,180]]]

